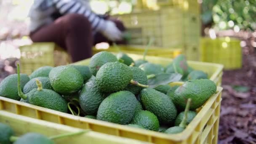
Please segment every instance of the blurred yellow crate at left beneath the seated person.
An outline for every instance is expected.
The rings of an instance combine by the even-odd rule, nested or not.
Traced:
[[[39,67],[55,67],[71,62],[67,52],[55,43],[32,43],[21,46],[19,49],[21,51],[21,73],[28,75]]]

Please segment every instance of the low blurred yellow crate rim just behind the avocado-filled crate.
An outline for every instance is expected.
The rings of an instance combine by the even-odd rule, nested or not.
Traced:
[[[146,48],[146,46],[142,46],[142,45],[118,45],[118,47],[123,53],[133,53],[133,54],[139,54],[139,55],[143,55]],[[100,51],[119,52],[119,50],[114,46],[110,46],[107,49],[103,47],[93,48],[93,54],[99,53]],[[182,53],[182,50],[179,48],[176,49],[176,48],[150,47],[148,48],[147,56],[175,58],[181,53]]]

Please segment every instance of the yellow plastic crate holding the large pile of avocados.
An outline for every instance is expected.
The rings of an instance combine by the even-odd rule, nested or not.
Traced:
[[[128,54],[134,60],[141,59],[141,55]],[[171,59],[147,56],[147,60],[157,64],[166,66]],[[89,64],[90,59],[80,61],[74,64]],[[223,66],[220,64],[209,64],[203,62],[188,61],[189,65],[195,69],[203,69],[208,73],[210,79],[215,81],[217,85],[221,83],[221,75]],[[171,83],[170,85],[181,85],[183,82]],[[7,99],[0,96],[0,110],[12,112],[18,115],[33,117],[40,120],[50,121],[69,125],[76,128],[90,128],[92,131],[107,133],[114,136],[136,139],[140,141],[152,142],[155,144],[217,144],[219,116],[221,107],[221,91],[217,88],[217,93],[211,96],[204,106],[198,111],[197,116],[187,126],[187,128],[179,134],[169,135],[154,131],[131,128],[125,125],[108,123],[100,120],[88,119],[85,117],[73,116],[67,113],[38,107],[32,104]]]

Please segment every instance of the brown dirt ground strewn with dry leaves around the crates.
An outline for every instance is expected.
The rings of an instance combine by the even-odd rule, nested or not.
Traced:
[[[256,144],[256,32],[254,36],[240,38],[246,42],[243,68],[225,70],[222,80],[219,144]],[[0,81],[15,73],[16,61],[0,59]],[[234,85],[245,87],[238,91]]]

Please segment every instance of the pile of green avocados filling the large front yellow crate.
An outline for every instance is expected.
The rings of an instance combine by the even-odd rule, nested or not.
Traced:
[[[173,125],[179,127],[182,121],[178,129],[183,131],[196,116],[195,110],[216,92],[216,84],[208,75],[189,67],[182,54],[167,67],[107,51],[96,53],[88,66],[45,66],[30,76],[20,74],[17,66],[18,74],[0,83],[0,96],[165,133],[174,133],[167,129]],[[161,73],[178,73],[185,83],[173,87],[148,85],[148,80]],[[190,110],[184,112],[188,99],[191,99]]]

